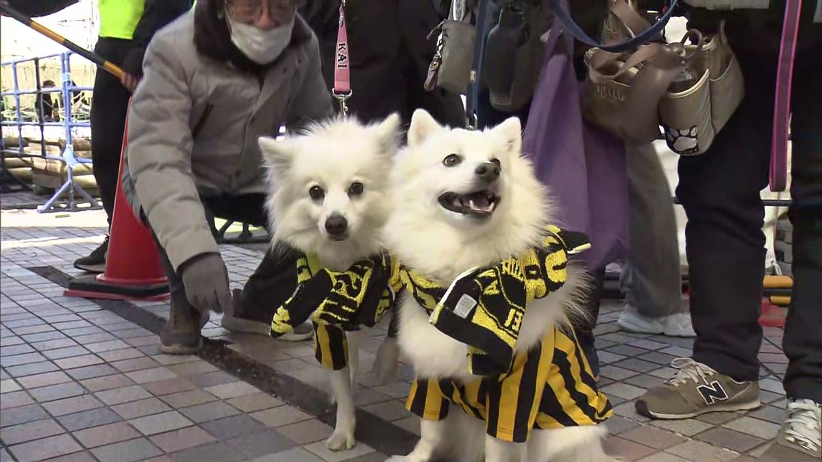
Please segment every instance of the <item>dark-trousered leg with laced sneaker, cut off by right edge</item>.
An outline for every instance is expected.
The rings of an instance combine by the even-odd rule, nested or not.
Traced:
[[[819,25],[822,27],[822,25]],[[764,460],[822,460],[822,44],[797,54],[792,98],[793,292],[787,416]]]

